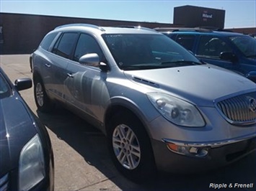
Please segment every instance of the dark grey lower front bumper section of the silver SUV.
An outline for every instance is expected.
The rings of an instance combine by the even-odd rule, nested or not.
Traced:
[[[172,152],[167,146],[167,139],[164,141],[152,140],[156,167],[161,171],[174,173],[202,172],[208,169],[216,169],[245,157],[247,154],[255,152],[256,138],[236,139],[225,141],[224,143],[208,144],[182,144],[185,146],[195,146],[198,149],[206,149],[205,156],[193,156],[189,154],[178,154]],[[177,143],[177,142],[176,142]],[[195,151],[193,149],[193,151]]]

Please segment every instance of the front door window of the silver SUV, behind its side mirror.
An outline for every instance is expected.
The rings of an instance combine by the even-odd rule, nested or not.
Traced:
[[[81,34],[76,45],[74,60],[78,62],[82,55],[89,53],[97,53],[97,55],[100,57],[100,60],[102,60],[102,51],[100,50],[97,41],[87,34]]]

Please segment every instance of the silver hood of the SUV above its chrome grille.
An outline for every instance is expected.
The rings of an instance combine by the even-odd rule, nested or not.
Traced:
[[[154,87],[149,91],[169,93],[196,106],[214,106],[226,95],[255,90],[255,83],[242,75],[208,64],[124,73],[135,83]]]

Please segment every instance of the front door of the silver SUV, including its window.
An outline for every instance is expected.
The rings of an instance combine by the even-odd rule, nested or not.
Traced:
[[[107,99],[106,95],[108,95],[107,73],[99,67],[79,63],[79,58],[89,53],[97,53],[100,60],[104,60],[96,39],[89,34],[80,34],[73,61],[69,62],[67,67],[68,78],[64,82],[65,98],[69,106],[77,111],[102,120],[102,101]],[[105,98],[102,99],[102,95]]]

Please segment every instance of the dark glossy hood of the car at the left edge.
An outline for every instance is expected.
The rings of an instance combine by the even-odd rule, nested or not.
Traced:
[[[23,146],[36,134],[19,95],[0,99],[0,177],[18,167]]]

